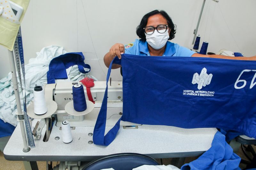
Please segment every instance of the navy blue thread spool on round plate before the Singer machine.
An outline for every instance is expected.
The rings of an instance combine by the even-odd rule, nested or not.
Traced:
[[[77,112],[86,110],[86,100],[84,95],[84,87],[80,84],[73,85],[73,106]]]

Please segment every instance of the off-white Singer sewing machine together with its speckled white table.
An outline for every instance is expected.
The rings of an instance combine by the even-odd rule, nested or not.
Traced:
[[[198,156],[211,147],[212,138],[216,133],[215,128],[182,129],[172,126],[138,125],[131,122],[120,123],[120,129],[115,140],[108,145],[99,146],[93,144],[93,129],[98,117],[101,100],[106,89],[106,82],[96,81],[91,87],[92,98],[95,107],[92,112],[83,116],[68,115],[64,110],[65,105],[72,100],[72,82],[58,82],[45,85],[46,100],[54,100],[57,103],[57,120],[50,133],[48,126],[38,125],[44,137],[35,140],[35,148],[29,152],[23,152],[20,123],[14,130],[12,137],[4,149],[4,157],[7,160],[22,160],[24,164],[36,166],[36,161],[60,161],[60,167],[67,164],[80,165],[80,161],[92,161],[105,155],[115,153],[141,153],[153,158],[178,158]],[[108,82],[108,114],[107,133],[121,117],[123,112],[122,82]],[[86,88],[84,86],[84,92]],[[85,94],[88,100],[87,94]],[[46,116],[49,121],[50,116]],[[73,141],[64,144],[61,140],[61,122],[68,120],[72,128]],[[44,122],[41,120],[41,122]],[[41,123],[40,123],[41,124]],[[51,123],[46,122],[46,125]],[[40,128],[41,127],[41,128]],[[36,134],[37,137],[38,134]],[[35,138],[36,139],[36,138]],[[46,139],[46,140],[45,140]],[[185,158],[184,158],[185,159]],[[29,161],[29,162],[27,162]],[[73,165],[72,164],[72,165]]]

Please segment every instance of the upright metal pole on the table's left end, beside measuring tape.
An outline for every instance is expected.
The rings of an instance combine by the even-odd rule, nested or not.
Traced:
[[[30,148],[28,147],[26,130],[24,125],[24,114],[22,113],[21,104],[20,104],[20,93],[19,93],[19,86],[18,86],[18,80],[16,75],[16,69],[15,69],[14,55],[13,55],[13,52],[10,50],[8,50],[8,55],[9,55],[9,61],[10,61],[11,71],[12,71],[12,83],[14,87],[14,94],[15,94],[15,99],[17,104],[18,118],[20,121],[21,135],[23,139],[23,146],[24,146],[23,152],[28,152],[30,151]]]

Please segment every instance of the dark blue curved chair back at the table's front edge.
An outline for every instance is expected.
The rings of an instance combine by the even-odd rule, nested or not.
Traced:
[[[104,156],[90,162],[83,170],[99,170],[113,168],[115,170],[132,170],[142,165],[159,165],[158,162],[147,156],[138,153],[117,153]]]

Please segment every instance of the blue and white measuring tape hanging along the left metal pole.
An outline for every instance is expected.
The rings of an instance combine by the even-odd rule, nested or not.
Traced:
[[[32,135],[31,127],[28,121],[28,115],[27,115],[27,98],[26,98],[26,90],[24,90],[24,95],[23,95],[23,90],[22,90],[22,83],[21,83],[21,73],[20,73],[20,64],[21,64],[21,69],[22,69],[22,74],[23,74],[23,81],[24,81],[24,89],[26,87],[25,83],[25,65],[24,65],[24,54],[23,54],[23,46],[22,46],[22,38],[21,38],[21,30],[19,29],[18,35],[16,37],[15,43],[14,43],[14,55],[15,55],[15,61],[16,61],[16,67],[18,70],[18,76],[20,80],[20,87],[21,87],[21,94],[22,94],[22,99],[23,99],[23,107],[24,107],[24,121],[25,121],[25,127],[26,127],[26,135],[28,139],[28,146],[31,148],[35,147],[35,142],[34,138]],[[20,101],[18,101],[20,102]]]

